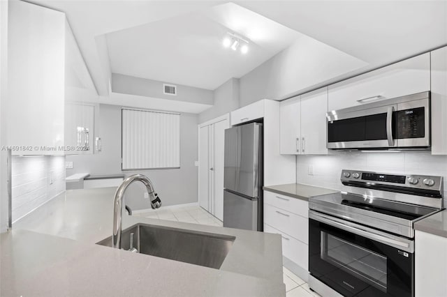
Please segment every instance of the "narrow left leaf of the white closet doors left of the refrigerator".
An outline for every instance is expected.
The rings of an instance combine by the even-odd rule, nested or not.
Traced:
[[[199,129],[198,204],[210,211],[210,126]]]

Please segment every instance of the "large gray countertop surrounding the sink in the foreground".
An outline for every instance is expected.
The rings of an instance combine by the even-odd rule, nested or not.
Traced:
[[[112,234],[114,188],[68,190],[1,234],[0,296],[285,296],[281,237],[124,215],[235,236],[219,270],[95,243]]]

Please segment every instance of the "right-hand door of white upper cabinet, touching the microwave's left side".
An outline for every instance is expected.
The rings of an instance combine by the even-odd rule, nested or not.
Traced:
[[[301,96],[301,153],[325,155],[328,110],[328,87]]]

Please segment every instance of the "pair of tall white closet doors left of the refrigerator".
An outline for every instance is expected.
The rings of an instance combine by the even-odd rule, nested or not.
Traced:
[[[223,156],[228,115],[198,126],[198,203],[223,220]]]

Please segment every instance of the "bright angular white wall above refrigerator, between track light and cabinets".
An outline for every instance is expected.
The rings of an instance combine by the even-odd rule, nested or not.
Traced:
[[[240,106],[288,98],[367,63],[307,36],[240,78]],[[311,88],[312,89],[312,88]]]

